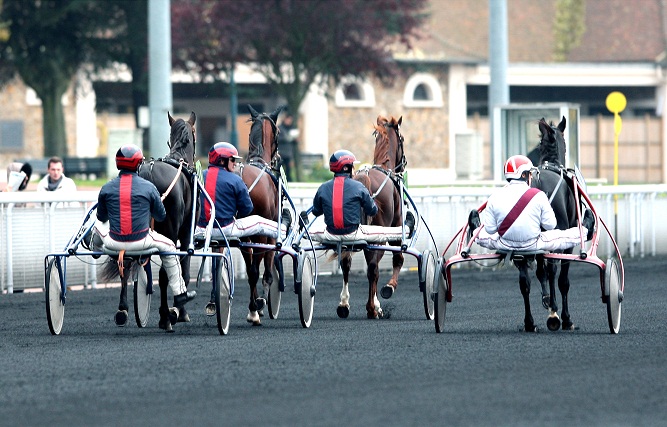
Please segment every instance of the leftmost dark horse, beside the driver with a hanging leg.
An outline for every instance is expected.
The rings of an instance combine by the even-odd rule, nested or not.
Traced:
[[[155,231],[171,239],[177,249],[187,250],[192,240],[193,219],[193,182],[194,182],[194,157],[195,157],[195,113],[190,118],[174,119],[167,113],[171,132],[169,136],[169,154],[161,159],[152,159],[144,163],[139,169],[139,176],[151,181],[160,193],[167,217],[162,222],[155,222]],[[195,209],[196,211],[196,209]],[[195,212],[195,218],[198,215]],[[114,270],[115,265],[115,270]],[[115,262],[106,263],[103,276],[109,277],[118,273]],[[129,265],[128,265],[129,267]],[[133,267],[133,268],[136,268]],[[181,270],[186,286],[190,281],[190,256],[181,257]],[[118,313],[122,318],[122,311],[127,316],[127,274],[121,276],[121,295],[118,304]],[[160,322],[159,327],[166,331],[172,331],[172,324],[176,321],[189,321],[185,310],[175,317],[169,311],[167,299],[168,279],[167,273],[160,268]],[[119,314],[116,315],[118,323]]]

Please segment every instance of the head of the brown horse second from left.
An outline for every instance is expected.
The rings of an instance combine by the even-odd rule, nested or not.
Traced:
[[[260,161],[268,165],[277,159],[278,154],[278,115],[285,108],[279,106],[270,114],[258,113],[248,105],[250,112],[250,136],[248,137],[248,155],[246,161]]]

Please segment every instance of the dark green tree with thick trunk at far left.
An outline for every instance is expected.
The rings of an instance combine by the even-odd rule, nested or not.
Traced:
[[[83,64],[107,64],[122,24],[117,8],[92,0],[4,0],[0,62],[42,100],[44,155],[67,155],[61,98]]]

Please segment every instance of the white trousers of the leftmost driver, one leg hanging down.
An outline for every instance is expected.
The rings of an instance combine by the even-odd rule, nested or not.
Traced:
[[[109,236],[108,223],[97,221],[95,223],[95,231],[102,238],[104,247],[112,251],[143,251],[151,248],[156,248],[159,252],[176,251],[174,242],[154,230],[148,230],[148,234],[145,238],[134,242],[119,242],[112,239],[111,236]],[[101,250],[102,248],[95,249]],[[169,287],[174,296],[185,293],[187,287],[185,286],[185,281],[181,274],[181,263],[179,262],[178,257],[176,255],[160,255],[160,259],[162,260],[162,267],[164,267],[167,272]]]

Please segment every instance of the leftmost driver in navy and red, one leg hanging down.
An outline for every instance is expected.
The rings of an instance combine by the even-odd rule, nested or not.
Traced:
[[[95,231],[104,247],[112,251],[156,248],[160,252],[174,252],[174,242],[150,228],[151,217],[164,221],[167,212],[155,185],[137,174],[143,160],[144,155],[136,145],[128,144],[118,149],[116,167],[120,173],[100,190]],[[187,290],[176,255],[160,255],[160,259],[174,294],[174,307],[179,309],[179,319],[186,320],[185,304],[197,293]],[[171,324],[160,323],[160,327],[171,330]]]

